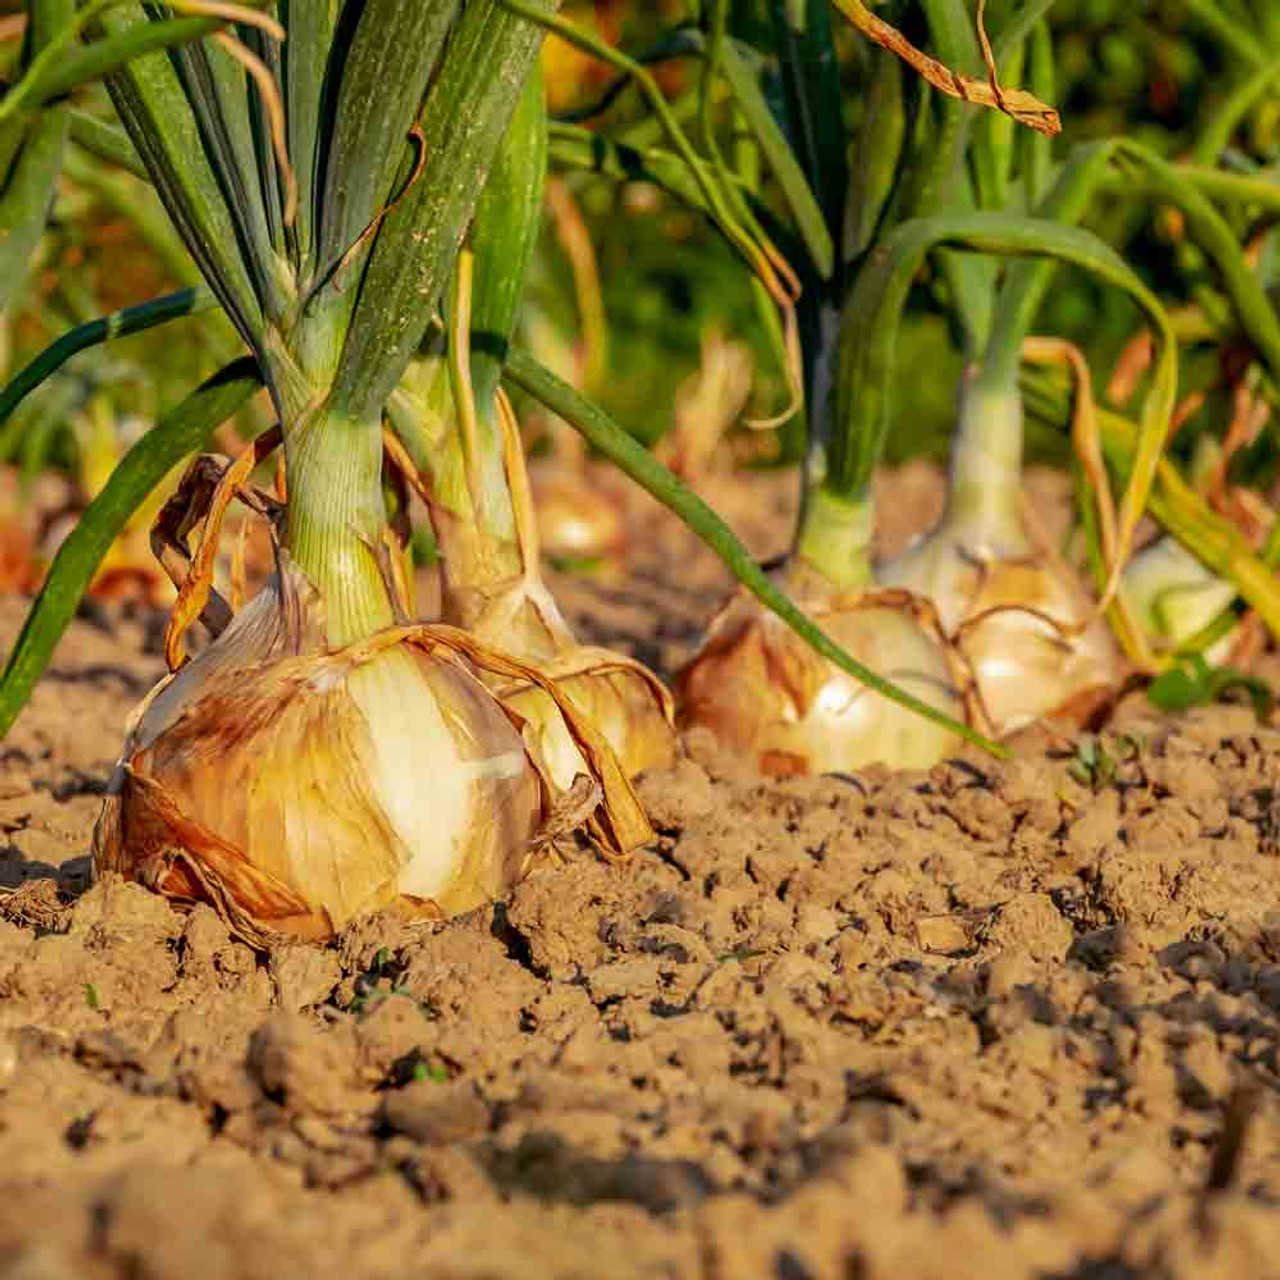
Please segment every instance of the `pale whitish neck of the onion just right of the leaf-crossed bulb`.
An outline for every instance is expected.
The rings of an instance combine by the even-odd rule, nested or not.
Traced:
[[[1023,477],[1023,401],[1016,383],[969,370],[951,445],[951,479],[942,522],[966,539],[1005,549],[1025,543],[1019,494]]]

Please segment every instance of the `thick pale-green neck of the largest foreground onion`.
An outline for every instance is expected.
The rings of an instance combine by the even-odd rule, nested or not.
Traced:
[[[378,419],[328,406],[292,415],[284,433],[288,522],[284,545],[319,590],[334,648],[394,622],[379,567],[387,509]]]

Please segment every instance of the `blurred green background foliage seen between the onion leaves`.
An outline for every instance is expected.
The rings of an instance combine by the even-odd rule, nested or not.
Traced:
[[[1019,0],[991,0],[987,27],[993,40],[998,42],[1002,22],[1018,8]],[[888,0],[876,9],[927,44],[910,0]],[[691,0],[568,0],[563,9],[566,17],[646,61],[673,100],[696,92],[696,63],[650,59],[646,51],[695,12]],[[1219,13],[1251,31],[1256,42],[1251,47],[1242,47],[1238,38],[1233,42],[1231,32],[1215,20]],[[759,37],[767,23],[764,0],[735,0],[730,19],[735,35]],[[1125,134],[1183,159],[1206,116],[1265,60],[1280,56],[1280,5],[1272,0],[1057,0],[1050,23],[1064,150],[1085,138]],[[860,110],[859,84],[869,60],[879,55],[851,29],[844,29],[841,38],[852,125]],[[0,51],[12,55],[14,44],[10,37]],[[558,118],[611,131],[653,128],[644,123],[648,113],[634,87],[612,92],[617,81],[612,68],[554,38],[544,58],[549,105]],[[765,73],[765,88],[777,97],[781,91],[771,86],[768,67]],[[602,102],[604,110],[596,110]],[[79,105],[110,116],[101,90]],[[723,141],[732,145],[727,131]],[[1240,172],[1280,175],[1280,77],[1235,131],[1224,159]],[[1097,202],[1089,224],[1171,306],[1199,297],[1204,264],[1180,243],[1176,219],[1167,211],[1115,192]],[[1266,270],[1270,232],[1257,220],[1252,225],[1256,236],[1262,225],[1266,243],[1256,247]],[[196,278],[150,188],[73,147],[27,288],[0,325],[0,365],[12,375],[68,328]],[[946,451],[960,352],[943,291],[941,276],[925,274],[913,293],[900,347],[891,463],[914,456],[941,458]],[[1078,343],[1101,383],[1133,334],[1134,315],[1117,293],[1079,273],[1064,273],[1038,329]],[[649,443],[672,428],[673,393],[694,379],[709,353],[728,351],[746,361],[751,380],[741,416],[776,412],[787,399],[741,262],[700,218],[641,183],[617,184],[582,173],[561,174],[553,182],[522,340]],[[0,503],[19,503],[41,476],[54,475],[67,486],[65,506],[82,504],[132,439],[236,349],[227,321],[209,312],[76,357],[0,431],[0,465],[9,468],[8,477],[20,479],[17,492],[12,484],[0,492]],[[1229,417],[1224,407],[1229,378],[1221,367],[1229,353],[1220,333],[1202,344],[1185,343],[1184,392],[1206,394],[1206,411],[1175,442],[1187,456],[1196,448],[1197,433],[1220,434]],[[266,406],[256,401],[246,413],[251,420],[220,433],[223,447],[234,448],[237,438],[260,430]],[[536,420],[532,425],[536,435]],[[795,422],[763,436],[739,429],[736,452],[740,461],[754,465],[794,461],[800,438]],[[1056,429],[1037,430],[1033,422],[1030,445],[1033,458],[1065,461],[1065,440]],[[1263,436],[1239,463],[1270,467],[1272,451]],[[148,518],[142,513],[138,526]]]

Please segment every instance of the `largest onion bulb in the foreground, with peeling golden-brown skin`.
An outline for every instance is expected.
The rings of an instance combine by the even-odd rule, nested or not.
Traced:
[[[524,664],[452,627],[337,652],[324,634],[282,552],[269,586],[136,712],[93,835],[99,874],[209,902],[262,945],[384,908],[465,911],[582,822],[618,852],[648,838],[612,754],[554,687],[585,787],[554,786],[477,676],[538,682]]]

